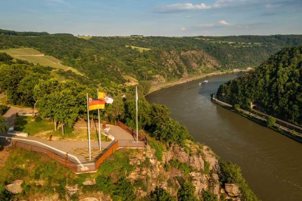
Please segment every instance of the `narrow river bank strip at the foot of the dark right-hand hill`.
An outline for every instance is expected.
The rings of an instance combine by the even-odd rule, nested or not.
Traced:
[[[251,113],[251,112],[243,110],[241,108],[233,108],[232,105],[218,100],[215,97],[216,93],[211,94],[211,96],[212,96],[211,101],[213,103],[216,103],[216,104],[218,104],[218,105],[220,105],[220,106],[222,106],[222,107],[224,107],[228,110],[231,110],[232,112],[235,112],[235,113],[237,113],[241,116],[244,116],[244,117],[248,118],[249,120],[252,120],[253,122],[258,123],[261,126],[267,127],[266,126],[267,119],[263,118],[264,116],[261,117],[261,116],[257,115],[257,113]],[[289,138],[291,138],[291,139],[293,139],[297,142],[302,143],[302,136],[299,135],[299,134],[293,133],[291,131],[291,128],[288,128],[288,127],[284,126],[284,124],[281,126],[280,123],[279,124],[275,123],[274,126],[270,126],[268,128],[274,130],[275,132],[281,133],[282,135],[287,136],[287,137],[289,137]]]

